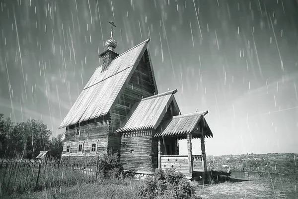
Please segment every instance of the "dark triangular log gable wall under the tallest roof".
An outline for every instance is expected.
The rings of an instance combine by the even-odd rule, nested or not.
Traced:
[[[143,98],[153,96],[155,87],[150,78],[150,67],[145,54],[136,67],[132,77],[126,85],[118,102],[111,110],[112,130],[115,131],[122,125],[131,107]]]

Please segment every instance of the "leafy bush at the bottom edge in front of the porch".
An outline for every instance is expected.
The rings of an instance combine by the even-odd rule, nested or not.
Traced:
[[[180,172],[156,170],[152,177],[145,179],[144,186],[139,186],[138,196],[142,199],[184,199],[190,198],[192,191],[190,182]]]

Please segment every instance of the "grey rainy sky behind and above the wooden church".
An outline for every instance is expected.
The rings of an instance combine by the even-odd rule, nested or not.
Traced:
[[[209,111],[207,155],[298,153],[297,10],[297,0],[0,0],[0,112],[63,133],[114,21],[115,52],[150,38],[159,93],[177,89],[182,114]]]

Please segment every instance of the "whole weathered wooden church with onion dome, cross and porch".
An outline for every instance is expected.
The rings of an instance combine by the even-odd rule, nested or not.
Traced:
[[[177,90],[159,93],[148,44],[114,52],[117,42],[106,41],[99,56],[103,64],[83,88],[59,128],[64,134],[63,162],[88,163],[108,150],[118,151],[126,170],[151,174],[174,168],[193,177],[207,172],[205,143],[213,134],[204,115],[181,114]],[[201,154],[192,153],[191,140],[201,139]],[[187,139],[187,155],[179,155],[179,139]]]

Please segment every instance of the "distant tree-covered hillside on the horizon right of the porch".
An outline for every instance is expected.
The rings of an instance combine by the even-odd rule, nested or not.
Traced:
[[[298,154],[268,153],[207,156],[208,169],[298,174]],[[227,165],[228,167],[223,167]]]

